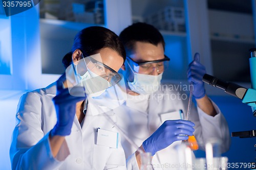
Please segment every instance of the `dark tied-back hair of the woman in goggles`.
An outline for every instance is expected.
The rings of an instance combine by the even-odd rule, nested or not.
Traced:
[[[125,61],[126,53],[124,46],[114,32],[98,26],[85,28],[76,34],[71,52],[63,57],[62,63],[67,68],[72,62],[72,54],[77,49],[86,57],[97,54],[99,50],[105,47],[115,50],[123,57],[123,62]]]

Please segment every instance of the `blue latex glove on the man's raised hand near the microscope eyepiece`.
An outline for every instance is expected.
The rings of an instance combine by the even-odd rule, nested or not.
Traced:
[[[196,53],[187,70],[187,79],[189,83],[193,83],[193,95],[196,99],[201,99],[205,96],[204,74],[206,74],[205,66],[200,63],[199,53]]]

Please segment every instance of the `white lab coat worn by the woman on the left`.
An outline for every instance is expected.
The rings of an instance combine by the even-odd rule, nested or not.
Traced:
[[[10,148],[12,169],[126,169],[120,138],[117,149],[95,144],[97,128],[117,130],[90,101],[82,126],[75,116],[71,134],[65,137],[57,157],[52,156],[48,139],[57,121],[52,102],[55,84],[20,98]],[[113,112],[107,114],[115,120]]]

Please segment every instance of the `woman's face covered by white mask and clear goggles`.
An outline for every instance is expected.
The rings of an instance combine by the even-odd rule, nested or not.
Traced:
[[[87,57],[82,55],[80,60],[72,62],[66,69],[66,78],[70,94],[77,96],[77,94],[72,94],[72,88],[75,86],[84,87],[87,95],[95,94],[119,83],[122,75],[103,64],[98,53]]]

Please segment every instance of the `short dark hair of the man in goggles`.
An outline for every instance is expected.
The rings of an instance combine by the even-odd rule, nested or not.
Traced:
[[[165,46],[162,34],[154,26],[143,22],[137,22],[125,28],[120,33],[119,38],[125,47],[126,53],[135,50],[136,41],[148,42],[154,45],[162,43],[163,48]]]

